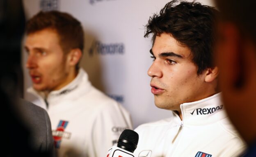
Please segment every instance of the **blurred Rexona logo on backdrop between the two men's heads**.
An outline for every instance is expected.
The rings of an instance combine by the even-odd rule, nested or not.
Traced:
[[[98,55],[123,55],[125,46],[123,43],[102,43],[94,41],[89,49],[89,56]]]

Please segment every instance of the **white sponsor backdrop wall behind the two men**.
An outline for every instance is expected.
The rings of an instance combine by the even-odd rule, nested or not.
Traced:
[[[169,117],[171,111],[155,107],[147,70],[152,63],[151,39],[144,25],[170,0],[23,0],[27,18],[39,10],[56,9],[80,20],[85,30],[81,66],[92,84],[119,101],[132,115],[133,126]],[[191,1],[191,0],[189,0]],[[213,6],[211,0],[198,0]],[[23,65],[26,61],[23,53]],[[24,97],[31,86],[24,71]]]

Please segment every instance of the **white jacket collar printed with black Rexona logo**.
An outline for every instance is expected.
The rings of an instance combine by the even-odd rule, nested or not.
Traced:
[[[180,108],[183,125],[206,125],[227,117],[221,102],[221,93],[196,102],[181,104]],[[177,123],[181,122],[176,113],[173,120]]]

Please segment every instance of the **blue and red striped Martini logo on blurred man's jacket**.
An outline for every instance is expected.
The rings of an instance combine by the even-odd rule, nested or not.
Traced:
[[[62,138],[70,139],[71,133],[65,132],[66,126],[69,124],[68,121],[60,120],[56,130],[53,130],[53,139],[55,148],[60,147]]]

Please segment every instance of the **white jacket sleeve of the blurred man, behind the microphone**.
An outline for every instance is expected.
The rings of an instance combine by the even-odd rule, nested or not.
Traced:
[[[105,157],[124,129],[132,129],[130,114],[117,102],[98,108],[91,131],[89,157]]]

